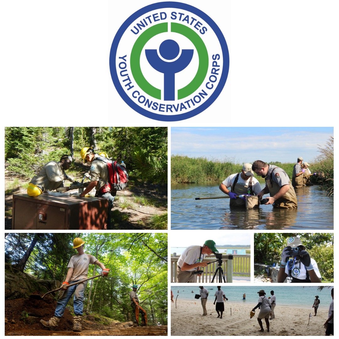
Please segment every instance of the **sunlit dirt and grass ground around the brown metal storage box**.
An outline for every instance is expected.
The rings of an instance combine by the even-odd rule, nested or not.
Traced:
[[[5,230],[10,230],[12,196],[26,194],[30,180],[11,176],[6,167],[5,163]],[[88,164],[75,162],[67,174],[81,182],[83,173],[88,170]],[[90,193],[94,196],[95,190]],[[167,184],[155,185],[130,177],[128,186],[117,192],[111,219],[113,230],[167,229]]]

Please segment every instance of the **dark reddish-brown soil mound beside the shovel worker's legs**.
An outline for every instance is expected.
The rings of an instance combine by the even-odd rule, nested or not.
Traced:
[[[38,293],[36,293],[38,294]],[[5,334],[7,332],[32,333],[32,330],[42,332],[39,335],[49,335],[48,328],[40,324],[40,319],[49,320],[54,316],[57,302],[49,295],[45,296],[43,300],[36,299],[14,299],[5,300],[5,318],[8,323],[5,324]],[[22,312],[28,313],[28,318],[22,319]],[[73,316],[66,309],[64,315],[61,317],[57,331],[70,331],[73,328]],[[14,321],[14,322],[13,322]],[[33,334],[33,333],[32,333]]]

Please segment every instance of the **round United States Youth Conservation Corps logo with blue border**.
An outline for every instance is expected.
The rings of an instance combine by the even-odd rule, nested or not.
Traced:
[[[225,38],[200,9],[158,2],[119,28],[109,67],[121,98],[141,115],[179,121],[203,112],[221,93],[230,66]]]

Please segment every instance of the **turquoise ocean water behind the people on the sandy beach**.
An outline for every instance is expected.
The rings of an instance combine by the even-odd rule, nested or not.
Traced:
[[[207,291],[210,293],[210,297],[207,299],[207,302],[214,302],[214,294],[218,290],[217,286],[208,286],[204,285]],[[274,294],[276,296],[277,307],[286,306],[286,307],[295,307],[295,308],[312,308],[315,296],[318,295],[320,299],[319,309],[328,309],[330,303],[332,301],[331,290],[333,286],[327,288],[327,286],[321,291],[317,291],[318,286],[290,286],[290,284],[286,284],[286,286],[276,286],[275,284],[271,284],[269,287],[266,286],[227,286],[221,285],[221,289],[224,291],[226,298],[228,301],[225,302],[236,302],[236,303],[248,303],[251,306],[256,306],[258,303],[259,295],[257,292],[260,290],[264,290],[266,292],[266,296],[271,296],[271,291],[274,290]],[[213,288],[213,290],[211,290]],[[200,294],[199,286],[179,286],[173,285],[171,286],[171,290],[173,292],[174,298],[176,299],[177,295],[178,300],[192,300],[199,301],[194,299],[195,294]],[[179,291],[179,293],[177,292]],[[193,291],[193,293],[192,293]],[[246,300],[242,300],[242,295],[246,293]]]

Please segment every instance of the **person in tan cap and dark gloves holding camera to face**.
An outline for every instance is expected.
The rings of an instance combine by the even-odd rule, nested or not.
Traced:
[[[297,248],[298,250],[296,250]],[[291,255],[293,249],[298,255]],[[299,237],[287,238],[287,246],[281,253],[277,282],[284,282],[288,276],[292,278],[293,283],[321,282],[318,265],[307,253],[306,247],[301,243]]]

